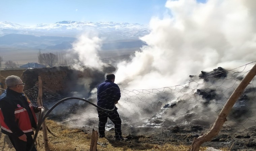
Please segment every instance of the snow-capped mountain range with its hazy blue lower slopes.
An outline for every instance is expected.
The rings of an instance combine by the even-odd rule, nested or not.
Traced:
[[[53,24],[24,26],[0,22],[0,47],[70,49],[82,33],[103,39],[102,49],[137,48],[145,45],[139,37],[149,34],[147,25],[127,22],[59,21]]]

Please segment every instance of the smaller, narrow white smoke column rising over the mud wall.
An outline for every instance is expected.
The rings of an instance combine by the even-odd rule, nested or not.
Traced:
[[[67,58],[70,58],[73,69],[81,71],[79,76],[85,74],[85,78],[79,78],[77,80],[76,87],[71,92],[75,97],[87,97],[91,91],[91,87],[94,86],[95,81],[99,80],[104,66],[108,66],[103,63],[98,55],[98,51],[101,49],[102,40],[97,36],[97,32],[88,32],[81,34],[77,41],[72,46],[73,48],[67,54]],[[95,71],[95,72],[94,72]],[[73,76],[77,77],[78,73],[74,73]],[[91,76],[88,76],[91,75]]]

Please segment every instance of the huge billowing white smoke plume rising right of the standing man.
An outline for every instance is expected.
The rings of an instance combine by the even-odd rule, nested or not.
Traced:
[[[148,46],[118,64],[116,83],[154,89],[184,83],[189,75],[218,66],[232,69],[255,61],[254,0],[168,0],[163,19],[150,21]]]

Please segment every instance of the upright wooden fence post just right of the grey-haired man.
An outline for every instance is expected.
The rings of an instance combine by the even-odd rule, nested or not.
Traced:
[[[43,101],[42,101],[42,96],[43,96],[43,88],[42,88],[42,79],[40,76],[38,76],[38,97],[37,97],[37,103],[39,106],[43,106]],[[44,143],[44,149],[45,151],[48,149],[48,136],[47,136],[47,127],[46,123],[42,123],[43,127],[43,143]]]

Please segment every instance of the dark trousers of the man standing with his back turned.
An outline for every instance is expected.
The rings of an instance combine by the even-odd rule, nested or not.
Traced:
[[[121,118],[117,112],[117,110],[108,112],[101,111],[97,109],[99,115],[99,136],[105,137],[105,125],[107,123],[107,118],[109,118],[115,124],[115,135],[116,139],[122,136],[121,132]]]

